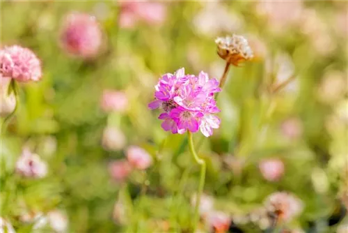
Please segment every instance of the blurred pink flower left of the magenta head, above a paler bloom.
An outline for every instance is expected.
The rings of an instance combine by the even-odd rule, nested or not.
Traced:
[[[128,99],[122,91],[104,90],[100,105],[105,112],[125,112],[128,107]]]

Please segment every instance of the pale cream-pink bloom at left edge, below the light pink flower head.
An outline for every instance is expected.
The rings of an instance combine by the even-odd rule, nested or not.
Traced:
[[[10,85],[10,78],[0,77],[0,116],[6,117],[13,112],[16,107],[15,94],[12,92],[8,95],[8,87]]]

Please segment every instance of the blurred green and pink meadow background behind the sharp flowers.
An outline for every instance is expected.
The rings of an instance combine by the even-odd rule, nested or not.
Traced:
[[[42,63],[1,135],[1,232],[191,232],[199,167],[148,103],[178,68],[219,80],[214,40],[232,33],[254,59],[230,68],[221,127],[193,135],[198,232],[347,232],[347,22],[334,0],[1,1],[1,47]],[[20,172],[24,153],[38,171]],[[294,197],[281,213],[277,192]]]

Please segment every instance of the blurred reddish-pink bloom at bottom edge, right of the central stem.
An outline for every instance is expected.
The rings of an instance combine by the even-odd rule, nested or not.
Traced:
[[[231,220],[231,217],[227,213],[212,211],[208,213],[206,223],[209,230],[214,230],[214,232],[227,232]]]

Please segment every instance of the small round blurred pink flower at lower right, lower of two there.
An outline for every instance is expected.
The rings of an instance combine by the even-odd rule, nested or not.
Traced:
[[[278,181],[284,174],[284,163],[278,158],[262,160],[259,163],[259,168],[267,181]]]

